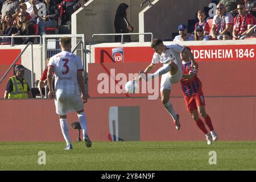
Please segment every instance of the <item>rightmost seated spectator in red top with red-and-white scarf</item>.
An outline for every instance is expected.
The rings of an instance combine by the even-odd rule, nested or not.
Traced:
[[[238,15],[234,18],[233,37],[237,39],[245,39],[247,30],[255,24],[253,15],[245,11],[245,5],[240,3],[237,5]]]

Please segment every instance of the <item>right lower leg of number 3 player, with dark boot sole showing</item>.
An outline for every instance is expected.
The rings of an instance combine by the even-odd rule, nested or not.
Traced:
[[[79,118],[79,123],[82,128],[82,134],[84,136],[84,142],[86,147],[92,147],[92,141],[89,139],[87,134],[87,118],[84,113],[84,110],[77,111],[77,117]]]

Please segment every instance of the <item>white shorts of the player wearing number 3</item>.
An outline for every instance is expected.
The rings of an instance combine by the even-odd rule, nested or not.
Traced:
[[[84,102],[81,96],[75,94],[56,94],[55,107],[57,114],[66,115],[84,109]]]

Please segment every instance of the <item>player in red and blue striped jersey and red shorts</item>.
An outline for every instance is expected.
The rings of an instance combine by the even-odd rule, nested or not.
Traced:
[[[209,115],[205,111],[202,84],[197,77],[198,65],[195,63],[196,66],[191,66],[191,59],[186,52],[181,52],[180,58],[183,63],[183,76],[180,82],[187,110],[192,115],[192,118],[196,121],[197,127],[199,127],[199,129],[203,131],[207,137],[207,143],[212,144],[212,140],[217,140],[217,134],[213,129],[212,121],[210,120]],[[201,117],[203,117],[205,124],[209,127],[210,133],[208,133],[207,129],[205,128],[204,122],[200,119],[199,114]]]

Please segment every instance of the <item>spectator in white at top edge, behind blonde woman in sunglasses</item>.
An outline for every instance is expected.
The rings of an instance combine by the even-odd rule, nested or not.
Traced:
[[[43,10],[46,9],[46,5],[38,0],[29,0],[25,2],[27,5],[27,13],[31,16],[31,22],[37,23],[39,26],[40,35],[43,35],[44,32],[44,23],[39,21],[38,18],[43,16]],[[45,34],[45,33],[44,33]]]

